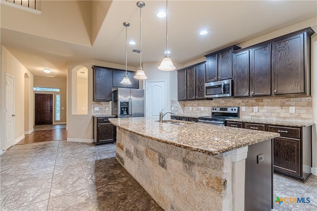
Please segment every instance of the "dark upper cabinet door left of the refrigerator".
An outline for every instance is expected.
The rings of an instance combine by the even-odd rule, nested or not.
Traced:
[[[111,101],[111,70],[94,68],[94,101]]]

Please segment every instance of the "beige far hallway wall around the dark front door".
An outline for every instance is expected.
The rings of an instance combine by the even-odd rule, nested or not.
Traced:
[[[53,124],[57,124],[59,122],[66,122],[66,78],[50,78],[50,77],[40,77],[40,76],[34,76],[34,87],[49,87],[49,88],[60,88],[60,92],[54,92],[54,94],[60,94],[60,121],[55,121],[54,115],[55,115],[55,106],[54,107],[54,113],[53,113]],[[47,93],[47,92],[39,92],[36,91],[36,93]],[[53,96],[54,98],[55,96]],[[32,91],[32,101],[34,99],[34,94]],[[53,100],[55,102],[55,98]],[[64,109],[62,109],[64,108]],[[34,107],[33,107],[34,110]]]

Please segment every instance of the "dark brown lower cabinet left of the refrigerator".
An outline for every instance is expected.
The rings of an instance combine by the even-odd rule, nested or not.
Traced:
[[[107,144],[115,142],[116,128],[108,118],[94,116],[94,144]]]

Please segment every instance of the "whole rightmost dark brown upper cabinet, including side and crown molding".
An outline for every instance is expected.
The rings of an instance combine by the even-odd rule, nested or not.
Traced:
[[[281,37],[272,44],[273,94],[310,95],[311,28]]]

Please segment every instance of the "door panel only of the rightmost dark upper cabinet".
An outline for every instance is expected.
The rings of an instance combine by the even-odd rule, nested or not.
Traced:
[[[274,94],[305,93],[304,35],[273,43]]]

